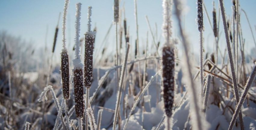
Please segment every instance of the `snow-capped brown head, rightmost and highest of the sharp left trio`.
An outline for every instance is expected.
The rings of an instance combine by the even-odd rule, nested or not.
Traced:
[[[91,87],[92,84],[92,56],[94,48],[94,36],[96,32],[85,33],[85,55],[84,55],[84,84]]]

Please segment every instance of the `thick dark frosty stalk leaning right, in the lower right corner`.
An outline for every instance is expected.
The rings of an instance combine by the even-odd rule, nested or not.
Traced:
[[[245,90],[244,90],[244,92],[243,92],[242,95],[241,95],[241,98],[240,98],[240,100],[239,100],[239,102],[238,102],[238,105],[236,105],[236,110],[235,110],[235,113],[234,113],[234,115],[233,115],[233,117],[232,117],[232,120],[231,120],[231,122],[230,122],[229,129],[228,129],[228,130],[232,130],[232,129],[233,129],[233,126],[234,126],[234,124],[235,124],[235,122],[236,122],[236,119],[237,119],[237,117],[238,117],[238,113],[241,113],[242,105],[243,105],[243,103],[244,103],[244,101],[245,101],[246,95],[247,95],[248,92],[249,92],[249,89],[250,89],[250,87],[251,87],[251,84],[252,84],[253,81],[255,80],[255,76],[256,76],[256,66],[254,65],[254,68],[253,68],[253,70],[252,70],[252,72],[251,72],[251,75],[249,76],[249,78],[248,78],[248,80],[247,80],[247,83],[246,83],[246,85],[245,85]],[[240,117],[239,117],[239,119],[240,119]]]

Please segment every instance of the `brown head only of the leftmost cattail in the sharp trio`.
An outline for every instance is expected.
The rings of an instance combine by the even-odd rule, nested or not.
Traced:
[[[65,99],[69,98],[69,61],[67,50],[61,52],[61,80]]]

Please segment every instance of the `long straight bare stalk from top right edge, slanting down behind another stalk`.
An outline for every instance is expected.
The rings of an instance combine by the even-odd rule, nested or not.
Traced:
[[[230,47],[225,8],[224,8],[223,0],[219,0],[219,1],[220,1],[220,10],[221,10],[221,15],[222,15],[224,32],[225,32],[225,36],[226,36],[227,50],[228,50],[228,56],[229,56],[229,64],[230,64],[230,68],[231,68],[231,74],[232,74],[233,87],[234,87],[234,91],[235,91],[236,104],[238,104],[238,102],[239,102],[238,84],[237,84],[237,78],[236,78],[236,71],[235,71],[235,67],[234,67],[233,56],[232,56],[231,47]],[[239,111],[239,122],[240,122],[241,129],[244,129],[243,128],[244,122],[243,122],[243,116],[242,116],[242,111],[241,110]]]

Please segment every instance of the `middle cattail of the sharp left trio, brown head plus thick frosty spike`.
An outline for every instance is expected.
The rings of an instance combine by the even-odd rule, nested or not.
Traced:
[[[76,117],[83,118],[84,102],[83,102],[83,64],[80,59],[79,48],[79,33],[80,33],[80,16],[81,16],[81,3],[76,3],[76,37],[75,37],[75,59],[73,59],[73,73],[74,73],[74,93],[75,93],[75,109]]]

